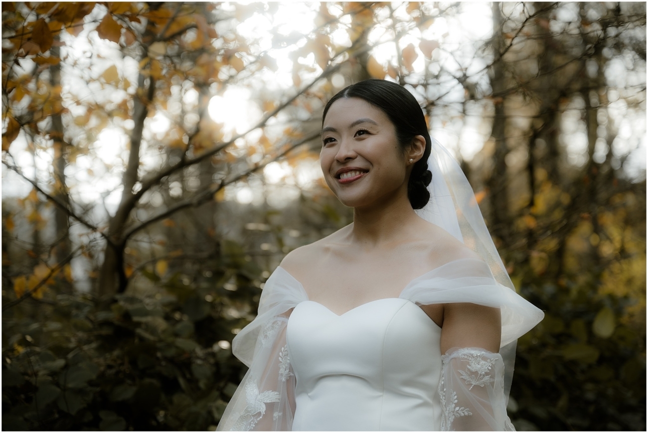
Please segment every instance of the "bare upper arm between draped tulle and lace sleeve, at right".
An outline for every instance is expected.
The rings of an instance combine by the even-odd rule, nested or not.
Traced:
[[[497,353],[501,338],[500,309],[473,303],[444,305],[441,353],[452,347],[480,347]]]

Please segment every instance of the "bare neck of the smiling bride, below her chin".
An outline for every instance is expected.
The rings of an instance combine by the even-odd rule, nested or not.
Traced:
[[[365,248],[403,239],[404,234],[419,219],[405,194],[371,207],[354,207],[351,237]]]

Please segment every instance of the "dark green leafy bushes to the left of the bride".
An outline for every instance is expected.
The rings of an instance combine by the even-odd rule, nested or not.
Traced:
[[[227,259],[204,263],[209,277],[145,272],[161,289],[153,296],[59,294],[39,320],[27,303],[6,311],[3,430],[217,425],[245,370],[232,330],[249,323],[260,294],[259,268],[235,242],[224,250]]]

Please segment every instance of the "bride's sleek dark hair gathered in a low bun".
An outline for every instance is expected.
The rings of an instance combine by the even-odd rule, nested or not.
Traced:
[[[416,135],[425,137],[425,152],[411,170],[407,196],[414,209],[421,209],[428,204],[430,192],[427,187],[432,181],[432,172],[428,170],[428,158],[432,139],[416,98],[407,89],[391,81],[375,79],[360,81],[342,89],[327,102],[322,115],[322,126],[330,106],[341,98],[363,99],[385,113],[396,129],[396,138],[403,150],[411,145]]]

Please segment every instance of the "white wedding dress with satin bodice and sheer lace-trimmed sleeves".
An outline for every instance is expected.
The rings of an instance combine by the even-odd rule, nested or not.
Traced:
[[[451,302],[500,308],[502,347],[513,351],[542,319],[478,259],[444,264],[399,298],[340,316],[277,268],[259,316],[234,340],[250,368],[218,430],[512,430],[502,356],[466,347],[441,354],[441,328],[419,307]]]

